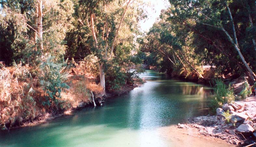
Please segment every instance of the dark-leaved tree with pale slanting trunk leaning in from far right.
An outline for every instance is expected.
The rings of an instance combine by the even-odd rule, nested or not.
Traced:
[[[170,0],[170,3],[173,6],[170,21],[191,29],[229,61],[236,62],[251,81],[256,80],[252,70],[255,70],[255,1]]]

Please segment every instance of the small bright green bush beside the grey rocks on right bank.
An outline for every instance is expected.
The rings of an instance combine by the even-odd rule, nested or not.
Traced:
[[[209,103],[212,112],[216,112],[216,108],[222,107],[223,104],[231,103],[235,100],[234,91],[230,86],[227,87],[221,80],[216,80],[215,83],[215,96]]]

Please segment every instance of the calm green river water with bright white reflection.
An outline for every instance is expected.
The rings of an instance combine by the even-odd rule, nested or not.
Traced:
[[[171,146],[165,127],[205,114],[210,88],[147,71],[147,83],[106,101],[45,124],[0,133],[0,146]]]

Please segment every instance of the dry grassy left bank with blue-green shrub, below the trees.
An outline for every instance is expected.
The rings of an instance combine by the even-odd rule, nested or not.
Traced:
[[[89,61],[69,62],[59,71],[14,64],[0,69],[1,130],[45,122],[77,108],[93,106],[92,95],[99,106],[107,96],[132,90],[140,80],[120,85],[104,93],[98,84],[95,64]],[[93,71],[93,72],[92,72]],[[54,73],[55,72],[55,73]],[[59,81],[58,81],[59,80]]]

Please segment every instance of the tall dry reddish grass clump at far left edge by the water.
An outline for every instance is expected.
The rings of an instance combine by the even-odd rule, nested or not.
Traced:
[[[0,69],[0,124],[1,128],[19,125],[42,114],[34,97],[40,92],[35,88],[27,66]]]

